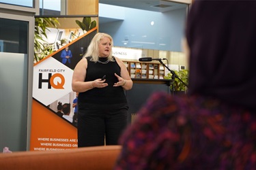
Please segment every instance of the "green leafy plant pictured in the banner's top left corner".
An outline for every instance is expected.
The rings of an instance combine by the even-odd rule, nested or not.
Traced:
[[[57,24],[59,24],[57,18],[35,18],[34,63],[53,52],[53,46],[49,46],[44,38],[47,39],[46,30],[49,30],[47,27],[57,28]]]

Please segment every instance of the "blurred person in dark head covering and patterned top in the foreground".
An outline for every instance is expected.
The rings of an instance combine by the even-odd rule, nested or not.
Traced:
[[[256,1],[195,1],[188,94],[156,92],[120,138],[117,169],[256,169]]]

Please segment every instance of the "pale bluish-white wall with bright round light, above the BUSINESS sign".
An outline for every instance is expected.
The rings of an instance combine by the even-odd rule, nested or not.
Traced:
[[[122,17],[115,17],[118,11]],[[109,33],[114,46],[182,52],[186,8],[160,13],[100,3],[99,16],[115,19],[102,23],[99,18],[99,31]]]

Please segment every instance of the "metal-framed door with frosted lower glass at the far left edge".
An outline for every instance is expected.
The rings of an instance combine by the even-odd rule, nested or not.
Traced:
[[[33,14],[0,13],[0,150],[29,148],[33,73]]]

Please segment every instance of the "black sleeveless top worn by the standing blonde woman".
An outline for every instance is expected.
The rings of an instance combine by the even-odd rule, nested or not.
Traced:
[[[79,102],[94,103],[94,104],[117,104],[127,103],[125,91],[122,86],[114,87],[114,83],[118,82],[115,73],[120,76],[121,68],[117,61],[109,61],[109,63],[102,64],[99,62],[90,61],[91,56],[87,56],[87,72],[85,82],[94,81],[106,75],[106,83],[109,86],[104,88],[92,88],[86,92],[79,92]],[[100,58],[104,62],[107,58]]]

